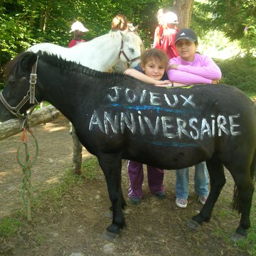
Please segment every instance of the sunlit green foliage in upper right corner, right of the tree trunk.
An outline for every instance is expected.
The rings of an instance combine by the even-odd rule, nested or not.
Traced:
[[[232,41],[239,40],[247,54],[255,51],[255,24],[256,1],[201,0],[195,1],[193,7],[192,26],[198,28],[201,36],[209,30],[222,31]]]

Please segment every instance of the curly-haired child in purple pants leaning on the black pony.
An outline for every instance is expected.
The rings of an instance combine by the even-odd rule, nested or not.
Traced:
[[[145,50],[141,55],[141,63],[134,69],[124,71],[125,75],[142,80],[153,85],[168,85],[166,80],[166,68],[168,66],[167,55],[159,49]],[[164,170],[146,165],[149,190],[157,198],[166,197],[164,190]],[[142,183],[144,180],[143,164],[137,161],[128,161],[129,192],[128,197],[132,204],[139,204],[142,201]]]

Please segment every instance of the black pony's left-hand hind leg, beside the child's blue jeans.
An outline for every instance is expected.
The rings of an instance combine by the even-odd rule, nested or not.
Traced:
[[[192,220],[188,222],[190,228],[197,228],[198,225],[202,225],[203,222],[210,220],[213,207],[225,185],[225,174],[222,162],[217,157],[213,157],[206,161],[206,164],[210,176],[210,193],[201,212],[193,216]]]

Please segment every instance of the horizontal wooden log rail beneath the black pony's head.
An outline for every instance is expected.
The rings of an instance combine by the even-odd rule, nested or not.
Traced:
[[[28,119],[29,127],[35,127],[38,124],[46,124],[48,122],[53,122],[55,119],[63,117],[63,114],[56,110],[52,105],[43,107],[40,110],[35,110],[32,112]],[[21,125],[23,120],[21,119],[10,119],[6,122],[0,122],[0,141],[8,137],[21,132]]]

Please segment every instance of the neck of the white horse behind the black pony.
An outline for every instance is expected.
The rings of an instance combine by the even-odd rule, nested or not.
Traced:
[[[119,50],[121,48],[122,36],[120,34],[107,34],[95,38],[86,43],[80,43],[78,46],[67,51],[67,59],[73,58],[73,61],[99,71],[110,70],[119,60]],[[76,57],[75,57],[76,56]]]

